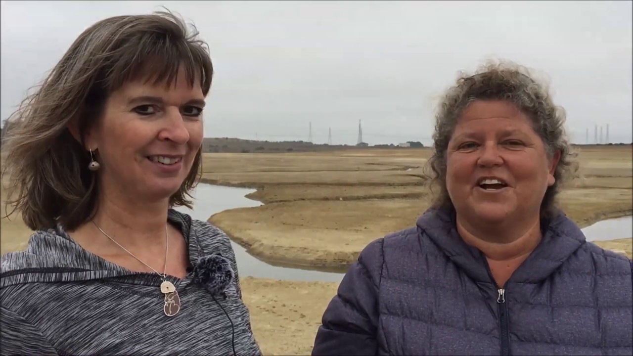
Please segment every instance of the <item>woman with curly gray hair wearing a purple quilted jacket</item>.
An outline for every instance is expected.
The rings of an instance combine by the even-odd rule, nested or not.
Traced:
[[[313,355],[632,355],[632,264],[555,204],[577,164],[564,111],[517,65],[448,89],[434,205],[365,248]]]

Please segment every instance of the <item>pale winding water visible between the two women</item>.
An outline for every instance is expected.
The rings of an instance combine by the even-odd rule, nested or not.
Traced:
[[[259,201],[244,197],[253,193],[254,189],[214,186],[200,183],[193,193],[194,210],[178,207],[176,210],[184,212],[193,219],[206,221],[215,213],[234,208],[250,208],[261,205]],[[298,269],[267,264],[250,255],[241,245],[231,241],[237,260],[237,268],[241,277],[285,279],[292,281],[326,281],[340,282],[341,273],[322,272],[319,270]]]

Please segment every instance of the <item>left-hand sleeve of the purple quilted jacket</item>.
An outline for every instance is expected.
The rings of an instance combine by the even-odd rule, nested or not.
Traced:
[[[312,355],[377,353],[378,285],[382,239],[368,245],[349,267],[337,295],[325,309]]]

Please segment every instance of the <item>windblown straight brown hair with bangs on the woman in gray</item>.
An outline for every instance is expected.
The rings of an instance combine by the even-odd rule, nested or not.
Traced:
[[[194,25],[169,11],[113,16],[84,30],[9,118],[2,162],[6,204],[22,213],[32,230],[60,222],[72,231],[92,219],[99,188],[88,169],[85,133],[123,84],[145,80],[169,86],[179,68],[192,87],[199,84],[208,94],[213,76],[208,46]],[[78,140],[68,127],[77,128]],[[170,197],[170,207],[192,208],[201,161],[199,150],[179,191]]]

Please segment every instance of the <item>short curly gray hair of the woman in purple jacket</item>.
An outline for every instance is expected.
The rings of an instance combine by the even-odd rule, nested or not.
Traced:
[[[577,177],[577,153],[565,134],[565,110],[553,103],[549,87],[537,82],[530,71],[511,62],[489,62],[472,75],[460,73],[454,86],[443,95],[437,107],[434,151],[427,162],[432,170],[430,185],[434,191],[434,207],[451,207],[453,202],[446,189],[446,151],[461,113],[479,100],[504,100],[513,103],[532,120],[534,131],[541,137],[547,154],[560,152],[556,166],[555,184],[550,186],[541,203],[541,216],[547,217],[556,209],[556,194],[561,184]],[[433,189],[432,189],[433,191]]]

